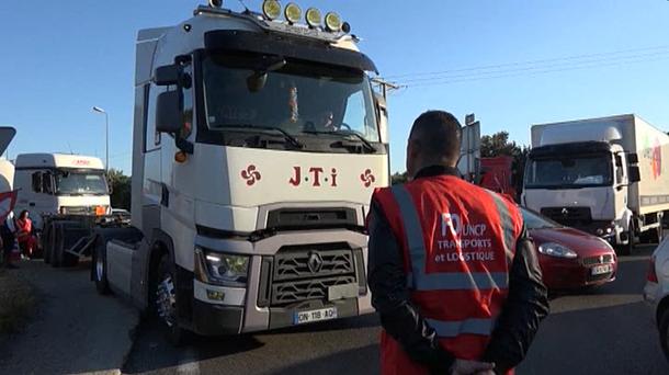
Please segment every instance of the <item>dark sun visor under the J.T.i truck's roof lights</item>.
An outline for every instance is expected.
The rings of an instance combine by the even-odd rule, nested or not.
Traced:
[[[377,72],[364,54],[336,48],[321,41],[308,41],[276,34],[259,34],[238,30],[211,31],[204,34],[207,50],[251,52],[281,55],[287,58],[342,66]]]

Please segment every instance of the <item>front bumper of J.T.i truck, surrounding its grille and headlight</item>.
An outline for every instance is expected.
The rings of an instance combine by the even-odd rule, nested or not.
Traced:
[[[301,238],[303,237],[304,238]],[[355,276],[364,283],[356,296],[322,296],[297,300],[290,304],[275,304],[268,294],[274,293],[271,287],[272,273],[267,270],[268,260],[273,259],[277,249],[285,243],[314,243],[317,238],[321,243],[349,242],[356,254]],[[311,242],[307,242],[311,241]],[[251,254],[249,276],[246,288],[223,287],[194,281],[193,285],[193,327],[204,336],[236,334],[273,330],[295,326],[298,311],[316,310],[328,307],[337,308],[337,319],[355,317],[373,312],[371,293],[366,287],[366,236],[347,231],[330,230],[318,234],[279,234],[258,242],[211,239],[197,236],[196,245],[213,251]],[[264,265],[263,265],[264,264]]]

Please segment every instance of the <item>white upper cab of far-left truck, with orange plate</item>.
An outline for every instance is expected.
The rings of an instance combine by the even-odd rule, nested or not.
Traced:
[[[111,211],[105,170],[99,158],[66,154],[21,154],[15,160],[15,209],[27,209],[37,230],[48,215],[106,215]]]

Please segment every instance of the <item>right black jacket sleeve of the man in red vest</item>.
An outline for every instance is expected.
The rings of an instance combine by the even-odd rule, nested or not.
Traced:
[[[515,367],[528,354],[548,315],[547,289],[532,239],[523,228],[515,246],[515,257],[509,274],[509,296],[497,320],[484,360],[495,362],[496,372],[503,374]]]

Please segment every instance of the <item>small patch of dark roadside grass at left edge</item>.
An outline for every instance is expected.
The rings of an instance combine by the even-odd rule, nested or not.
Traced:
[[[0,269],[0,337],[20,331],[35,305],[35,289],[19,272]]]

